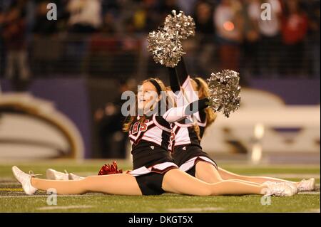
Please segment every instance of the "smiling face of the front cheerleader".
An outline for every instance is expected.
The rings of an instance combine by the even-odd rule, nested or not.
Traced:
[[[137,99],[138,110],[143,110],[144,113],[150,111],[158,101],[158,93],[155,86],[151,82],[144,82],[138,87]]]

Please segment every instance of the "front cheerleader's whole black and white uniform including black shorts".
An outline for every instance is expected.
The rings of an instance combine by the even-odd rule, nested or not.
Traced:
[[[203,104],[200,104],[203,105]],[[137,117],[128,137],[132,144],[133,171],[143,195],[163,194],[163,176],[170,169],[178,169],[168,152],[171,123],[190,114],[188,105],[171,108],[163,116]]]

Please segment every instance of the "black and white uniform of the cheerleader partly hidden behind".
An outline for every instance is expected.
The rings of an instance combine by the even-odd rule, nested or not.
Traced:
[[[176,76],[176,79],[170,79],[171,87],[174,83],[174,93],[176,91],[175,88],[178,88],[178,85],[175,83],[179,83],[179,79],[184,81],[180,92],[178,94],[175,93],[178,105],[188,101],[198,100],[198,95],[195,94],[193,86],[190,83],[190,77],[186,72],[180,72],[184,71],[184,69],[181,70],[182,67],[184,66],[178,64],[177,70],[180,78],[177,78]],[[171,77],[173,77],[173,73]],[[172,152],[175,164],[177,164],[182,171],[187,172],[191,176],[195,176],[195,165],[200,161],[213,164],[213,166],[218,169],[218,165],[215,161],[211,159],[207,153],[203,152],[198,136],[194,130],[193,122],[196,122],[200,127],[200,138],[203,137],[206,126],[206,114],[204,109],[199,108],[199,110],[200,111],[195,112],[192,117],[187,118],[189,122],[183,120],[173,124],[170,145],[168,147]]]

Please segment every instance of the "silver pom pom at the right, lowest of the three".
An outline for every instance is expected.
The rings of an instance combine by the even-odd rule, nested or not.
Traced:
[[[208,78],[210,106],[215,112],[221,111],[226,117],[240,107],[240,76],[233,70],[212,73]]]

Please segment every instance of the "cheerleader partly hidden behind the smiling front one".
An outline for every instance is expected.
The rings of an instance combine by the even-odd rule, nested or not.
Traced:
[[[191,79],[188,76],[183,59],[178,65],[169,68],[170,86],[173,92],[180,91],[176,98],[183,98],[183,93],[193,99],[190,95],[192,90],[198,93],[198,98],[208,97],[208,84],[202,78]],[[180,86],[180,82],[183,85]],[[193,99],[195,100],[195,98]],[[275,184],[276,182],[284,182],[290,184],[295,191],[312,191],[315,190],[315,179],[302,180],[300,182],[286,181],[266,176],[243,176],[234,174],[217,166],[213,159],[210,159],[207,153],[203,152],[200,147],[200,139],[203,137],[205,129],[215,121],[216,114],[210,107],[197,112],[195,116],[195,124],[188,125],[181,122],[175,122],[173,127],[173,137],[171,140],[170,150],[173,152],[173,159],[178,167],[196,178],[208,182],[217,183],[224,180],[248,181],[254,184]],[[195,114],[194,114],[195,115]]]

